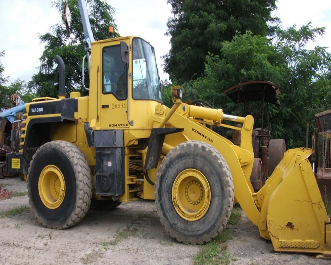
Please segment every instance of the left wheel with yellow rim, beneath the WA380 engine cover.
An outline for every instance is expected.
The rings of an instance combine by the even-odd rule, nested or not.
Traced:
[[[65,229],[87,213],[92,197],[91,171],[82,152],[65,141],[42,145],[27,175],[31,210],[44,227]]]

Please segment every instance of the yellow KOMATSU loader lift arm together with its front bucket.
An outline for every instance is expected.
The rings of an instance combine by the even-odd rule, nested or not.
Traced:
[[[160,110],[163,108],[163,111]],[[254,193],[249,176],[252,171],[253,117],[243,122],[241,146],[201,125],[196,118],[222,120],[222,111],[181,104],[168,119],[167,126],[185,128],[182,133],[167,135],[162,149],[165,155],[180,142],[199,140],[216,148],[227,162],[234,184],[234,195],[248,218],[259,228],[263,238],[271,239],[276,251],[331,254],[331,231],[325,206],[316,179],[307,160],[311,151],[305,148],[288,150],[282,161],[258,193]],[[170,110],[157,106],[153,115],[158,127]],[[162,113],[162,114],[160,114]],[[194,116],[192,115],[194,113]],[[168,117],[167,117],[168,118]],[[324,228],[326,233],[324,234]],[[325,236],[325,242],[324,242]]]

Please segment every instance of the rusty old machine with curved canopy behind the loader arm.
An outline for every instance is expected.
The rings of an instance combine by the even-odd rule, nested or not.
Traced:
[[[245,115],[252,113],[253,117],[259,121],[258,127],[253,129],[254,164],[250,177],[254,190],[258,191],[282,160],[286,151],[284,139],[271,139],[269,122],[269,104],[280,105],[277,97],[280,95],[279,87],[270,81],[245,81],[240,77],[240,84],[230,87],[225,94],[237,104],[236,115],[241,105],[242,113]],[[241,125],[238,124],[238,126]],[[239,131],[231,130],[227,137],[240,146]]]

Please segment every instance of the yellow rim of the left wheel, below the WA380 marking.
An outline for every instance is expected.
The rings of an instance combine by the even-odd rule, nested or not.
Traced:
[[[38,191],[42,203],[47,208],[56,209],[62,204],[66,193],[66,183],[57,166],[48,165],[41,170]]]

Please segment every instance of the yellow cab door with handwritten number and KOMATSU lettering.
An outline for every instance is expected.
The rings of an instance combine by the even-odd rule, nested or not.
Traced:
[[[120,42],[104,43],[101,58],[100,128],[127,128],[128,65],[121,60]]]

